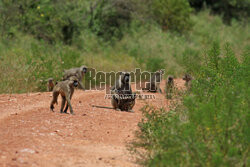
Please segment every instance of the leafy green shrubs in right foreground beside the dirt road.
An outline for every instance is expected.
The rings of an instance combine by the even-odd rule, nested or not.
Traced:
[[[249,165],[249,53],[240,62],[214,43],[183,105],[143,108],[134,146],[147,150],[146,166]]]

